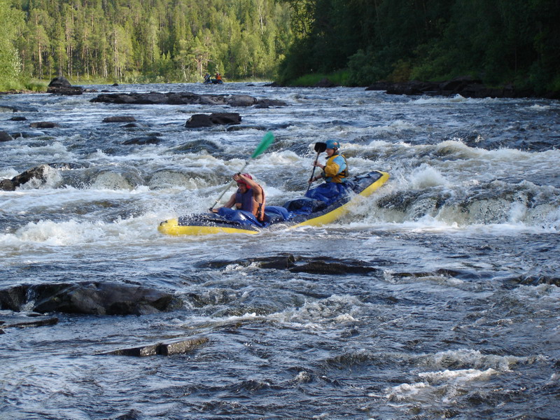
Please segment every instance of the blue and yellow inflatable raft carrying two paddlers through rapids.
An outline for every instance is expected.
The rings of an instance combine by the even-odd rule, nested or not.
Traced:
[[[212,235],[216,233],[244,233],[254,235],[274,226],[297,228],[320,226],[336,221],[348,213],[359,197],[368,197],[381,187],[389,174],[372,171],[349,178],[348,193],[331,204],[307,197],[296,198],[283,206],[267,206],[265,222],[260,223],[249,211],[223,209],[216,213],[189,214],[160,223],[158,230],[165,235]]]

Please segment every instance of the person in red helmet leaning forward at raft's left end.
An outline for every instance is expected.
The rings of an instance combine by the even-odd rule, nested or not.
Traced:
[[[230,200],[223,207],[213,209],[214,213],[220,213],[221,209],[231,209],[235,205],[236,210],[248,211],[262,222],[265,220],[265,190],[253,181],[249,174],[235,174],[233,180],[237,182],[237,191],[232,194]]]

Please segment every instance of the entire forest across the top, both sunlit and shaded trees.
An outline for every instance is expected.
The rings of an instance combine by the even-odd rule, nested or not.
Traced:
[[[0,0],[0,85],[472,76],[560,91],[558,0]],[[307,79],[306,79],[307,78]]]

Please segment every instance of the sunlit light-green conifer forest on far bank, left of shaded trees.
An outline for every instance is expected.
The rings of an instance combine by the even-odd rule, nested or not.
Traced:
[[[8,1],[8,0],[0,0]],[[271,80],[293,35],[275,0],[14,1],[28,77],[114,82]]]

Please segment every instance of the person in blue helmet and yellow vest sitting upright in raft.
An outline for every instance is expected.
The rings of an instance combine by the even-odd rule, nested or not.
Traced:
[[[305,197],[313,200],[321,200],[330,204],[334,202],[339,195],[346,193],[344,183],[348,178],[348,164],[344,155],[340,154],[338,149],[340,144],[337,140],[325,141],[327,153],[327,162],[325,165],[314,161],[313,165],[323,169],[323,173],[309,180],[309,183],[325,179],[317,188],[313,188],[305,194]]]

